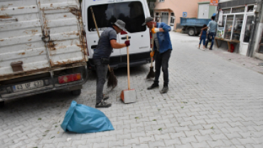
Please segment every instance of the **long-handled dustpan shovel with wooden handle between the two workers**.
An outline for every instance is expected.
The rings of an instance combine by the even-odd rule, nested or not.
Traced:
[[[127,41],[129,36],[127,36]],[[136,102],[136,91],[131,89],[129,82],[129,46],[127,46],[127,73],[128,73],[128,90],[122,90],[121,99],[124,103]]]

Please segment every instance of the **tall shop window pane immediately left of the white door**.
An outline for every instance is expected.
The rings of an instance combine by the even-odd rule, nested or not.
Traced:
[[[240,34],[242,31],[243,18],[244,18],[244,14],[235,15],[235,22],[234,22],[235,25],[234,25],[233,33],[232,33],[232,40],[240,41]]]

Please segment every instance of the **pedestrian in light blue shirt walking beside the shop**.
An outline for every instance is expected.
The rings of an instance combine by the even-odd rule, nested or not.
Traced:
[[[210,50],[213,49],[213,45],[214,45],[214,40],[215,40],[215,34],[218,28],[218,23],[215,22],[215,16],[211,17],[211,21],[208,23],[208,26],[206,26],[205,28],[202,28],[201,31],[208,29],[209,28],[209,33],[208,33],[208,41],[206,41],[205,43],[205,48],[208,48],[208,42],[209,40],[211,40],[211,46],[210,46]]]

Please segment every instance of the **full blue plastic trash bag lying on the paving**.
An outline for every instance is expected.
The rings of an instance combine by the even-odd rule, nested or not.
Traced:
[[[114,130],[112,123],[103,112],[73,100],[60,125],[65,132],[89,133]]]

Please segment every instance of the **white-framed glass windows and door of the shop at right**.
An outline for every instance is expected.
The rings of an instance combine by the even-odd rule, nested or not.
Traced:
[[[218,26],[217,34],[221,44],[235,44],[235,51],[246,56],[256,9],[257,4],[221,7],[219,13],[222,13],[222,25]]]

